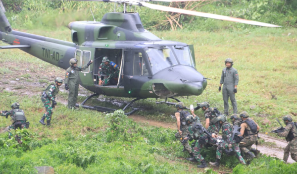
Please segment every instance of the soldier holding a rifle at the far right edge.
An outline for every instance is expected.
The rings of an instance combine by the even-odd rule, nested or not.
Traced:
[[[287,163],[289,154],[291,152],[291,157],[293,160],[297,162],[297,127],[296,123],[294,124],[292,121],[292,116],[287,115],[283,117],[284,123],[286,124],[284,132],[277,133],[280,137],[286,137],[286,140],[289,144],[285,148],[284,152],[284,162]]]

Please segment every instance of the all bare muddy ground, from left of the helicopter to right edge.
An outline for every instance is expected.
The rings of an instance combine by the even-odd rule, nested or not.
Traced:
[[[42,70],[37,68],[32,69],[32,64],[30,63],[10,62],[9,64],[5,64],[5,67],[7,67],[9,70],[7,72],[2,71],[0,73],[0,93],[5,90],[14,92],[16,95],[19,96],[40,95],[41,91],[43,91],[45,87],[47,87],[48,83],[51,84],[55,77],[64,78],[65,73],[65,70],[61,68],[54,68],[54,70],[50,67],[43,67]],[[67,93],[67,91],[64,90],[64,85],[62,85],[60,91],[60,93]],[[89,96],[90,94],[91,92],[80,87],[79,95]],[[56,100],[64,105],[67,104],[66,98],[58,97]],[[176,129],[176,125],[174,122],[160,122],[147,119],[146,117],[139,115],[132,115],[129,117],[136,122],[143,122],[147,123],[148,125],[157,127]],[[283,159],[283,150],[287,146],[287,142],[284,139],[270,137],[266,134],[260,134],[259,136],[265,142],[271,142],[269,145],[258,146],[258,150],[260,150],[261,153]],[[295,161],[292,160],[291,157],[289,157],[288,163],[294,162]]]

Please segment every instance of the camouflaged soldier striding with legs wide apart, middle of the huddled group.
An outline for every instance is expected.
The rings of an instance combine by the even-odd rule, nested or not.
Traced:
[[[211,166],[220,166],[220,159],[222,156],[222,152],[224,149],[232,149],[234,152],[236,152],[237,158],[240,161],[241,164],[246,164],[244,158],[241,156],[241,151],[239,148],[238,143],[235,142],[234,139],[232,139],[232,125],[227,121],[225,116],[218,116],[215,119],[216,122],[220,124],[220,127],[222,127],[222,138],[223,143],[221,143],[217,147],[216,151],[216,161],[214,163],[209,163]],[[215,135],[215,137],[218,137]]]

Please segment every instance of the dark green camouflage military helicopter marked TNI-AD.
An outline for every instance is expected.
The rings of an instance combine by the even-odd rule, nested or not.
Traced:
[[[147,98],[172,98],[200,95],[207,86],[207,79],[196,69],[194,46],[176,41],[164,41],[148,32],[137,12],[127,12],[126,5],[139,5],[151,9],[171,11],[220,20],[241,22],[266,27],[280,27],[257,21],[173,8],[149,1],[198,1],[198,0],[85,0],[115,2],[124,5],[123,12],[106,13],[101,21],[75,21],[68,24],[72,42],[61,41],[12,30],[5,14],[0,9],[0,39],[9,46],[0,49],[20,49],[63,69],[69,67],[69,60],[76,58],[78,66],[93,60],[93,63],[79,72],[80,85],[94,92],[77,107],[113,112],[114,109],[87,106],[85,103],[98,95],[136,98],[132,103]],[[93,15],[93,14],[92,14]],[[94,17],[94,16],[93,16]],[[101,86],[98,75],[103,57],[119,65],[117,85]],[[199,106],[195,108],[198,110]],[[133,114],[137,109],[132,108]]]

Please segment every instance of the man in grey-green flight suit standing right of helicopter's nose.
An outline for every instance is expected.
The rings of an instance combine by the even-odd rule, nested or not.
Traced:
[[[237,114],[237,103],[235,99],[235,94],[237,93],[237,85],[239,81],[239,76],[237,70],[232,67],[233,60],[231,58],[227,58],[225,60],[226,67],[223,69],[221,75],[221,81],[219,86],[219,92],[221,91],[222,84],[223,86],[223,100],[224,100],[224,111],[225,115],[229,116],[229,104],[228,100],[230,97],[230,101],[233,107],[233,114]]]

